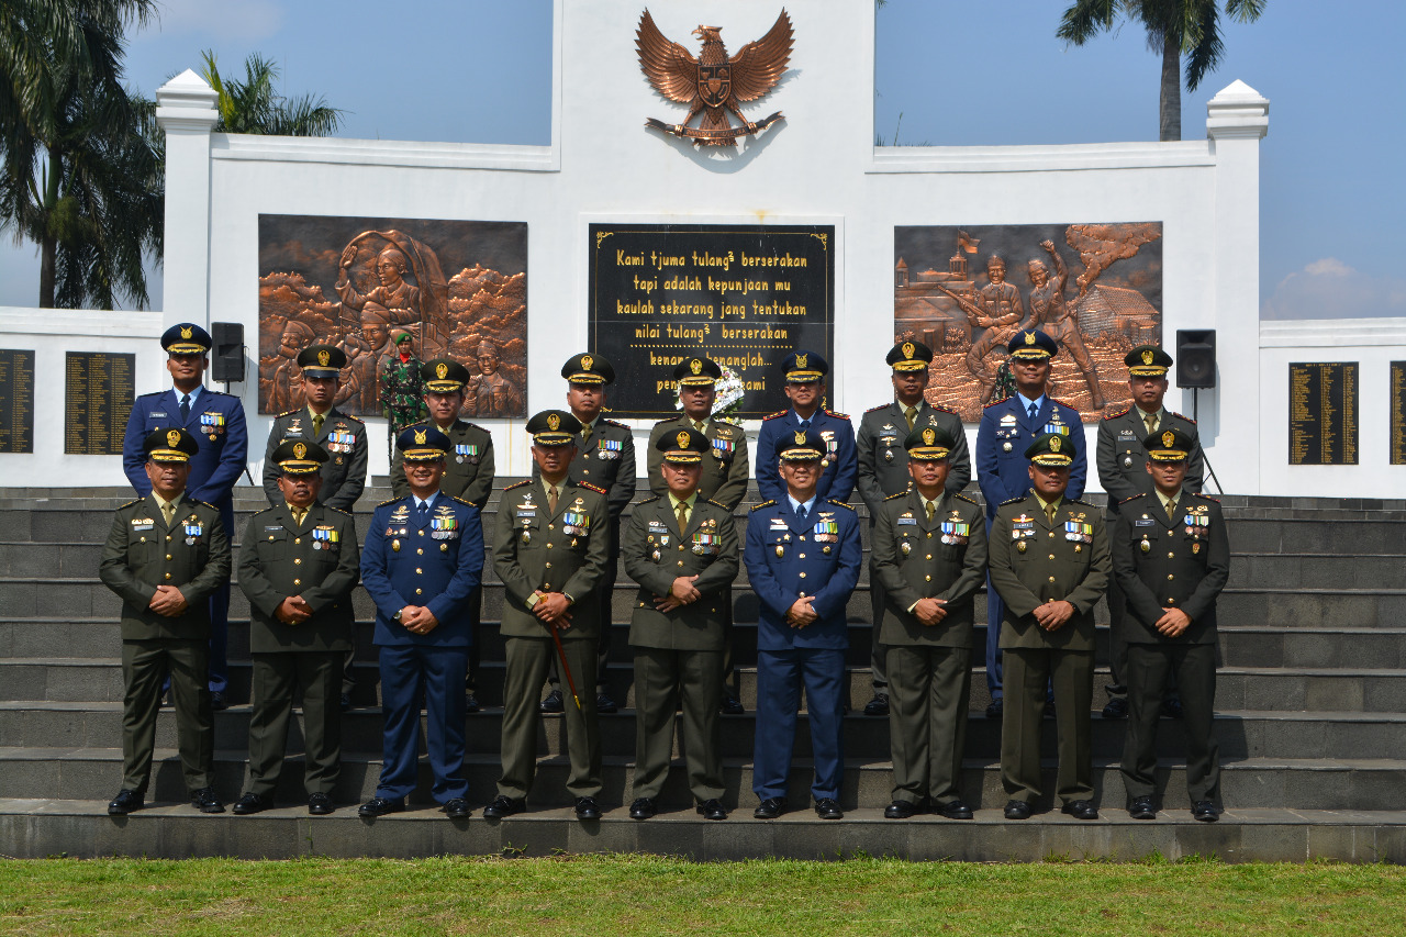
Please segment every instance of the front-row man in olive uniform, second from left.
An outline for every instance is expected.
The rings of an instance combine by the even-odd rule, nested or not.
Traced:
[[[307,374],[307,370],[304,370]],[[307,380],[307,378],[305,378]],[[308,813],[332,813],[342,763],[342,658],[356,620],[352,589],[361,550],[352,515],[319,502],[330,461],[315,442],[285,439],[270,453],[283,473],[283,502],[249,518],[239,547],[239,588],[249,597],[253,712],[249,784],[235,813],[273,806],[292,716],[302,689],[302,785]]]

